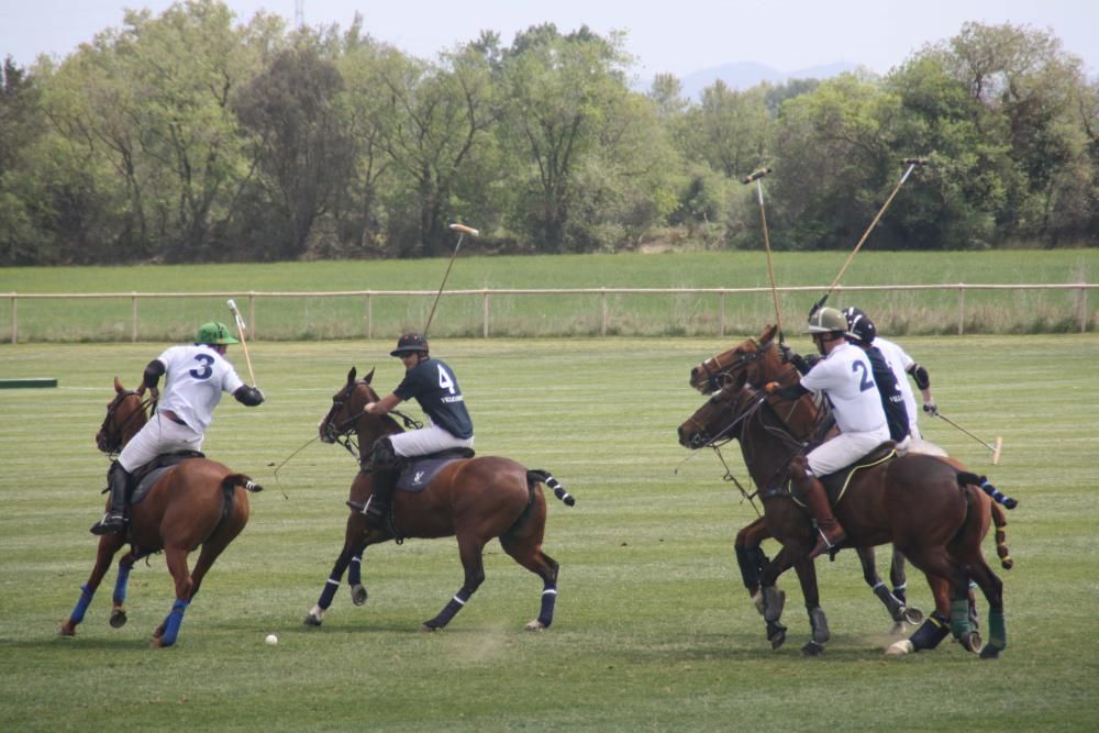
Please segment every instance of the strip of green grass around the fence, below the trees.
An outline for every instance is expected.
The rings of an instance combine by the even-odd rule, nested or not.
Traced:
[[[843,267],[847,253],[775,255],[775,280],[781,287],[812,292],[780,297],[787,323],[800,320]],[[347,292],[415,290],[409,299],[378,296],[255,299],[256,333],[265,340],[396,336],[422,327],[433,295],[446,271],[445,259],[278,263],[142,267],[0,268],[0,295],[27,293],[233,293],[248,314],[248,291]],[[1095,282],[1099,249],[891,253],[859,252],[842,286],[998,284],[1065,285]],[[552,288],[767,288],[766,260],[758,252],[668,253],[658,255],[560,255],[540,257],[459,257],[446,284],[455,290]],[[137,303],[140,341],[189,337],[211,313],[227,315],[225,296],[144,299]],[[959,296],[954,290],[837,292],[830,304],[857,304],[882,333],[957,332]],[[21,342],[130,341],[133,304],[129,297],[93,300],[29,300],[18,303]],[[444,295],[432,333],[476,336],[482,333],[485,303],[479,295]],[[718,295],[492,296],[489,330],[495,336],[715,336],[740,333],[774,321],[769,292]],[[1079,290],[967,290],[966,333],[1073,333],[1084,316],[1088,330],[1099,323],[1099,295]],[[788,329],[789,331],[790,329]],[[11,341],[11,306],[0,306],[0,342]]]

